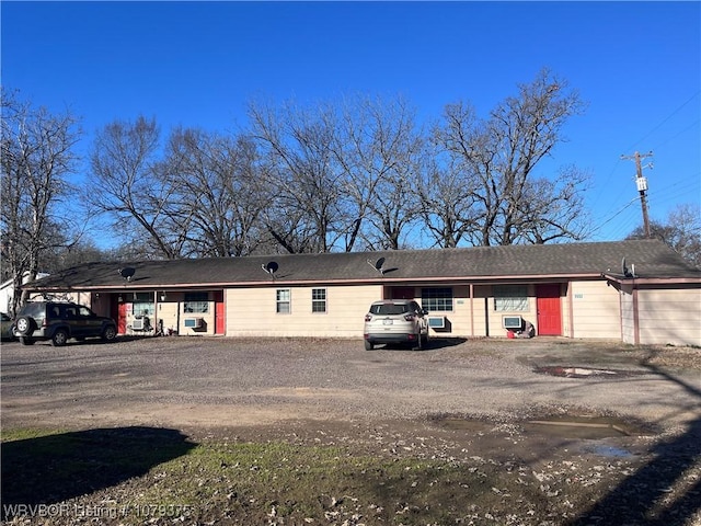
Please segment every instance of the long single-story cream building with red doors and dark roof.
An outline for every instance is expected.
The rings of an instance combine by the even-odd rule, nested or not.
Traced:
[[[701,345],[701,271],[657,240],[89,263],[27,284],[122,334],[361,338],[378,299],[415,299],[432,335]]]

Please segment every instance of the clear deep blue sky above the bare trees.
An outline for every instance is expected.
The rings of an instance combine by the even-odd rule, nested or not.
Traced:
[[[301,103],[402,94],[423,119],[458,100],[480,114],[543,67],[588,102],[539,175],[593,174],[587,205],[617,240],[701,204],[700,2],[16,2],[2,1],[2,84],[82,117],[81,151],[116,119],[164,133],[245,126],[256,96]],[[85,168],[87,170],[87,163]]]

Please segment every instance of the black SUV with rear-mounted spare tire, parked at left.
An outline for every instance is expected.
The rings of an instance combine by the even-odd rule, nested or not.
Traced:
[[[112,318],[95,315],[88,307],[61,301],[31,301],[22,307],[12,332],[24,345],[37,340],[50,340],[51,345],[65,345],[69,338],[90,336],[113,341],[117,325]]]

